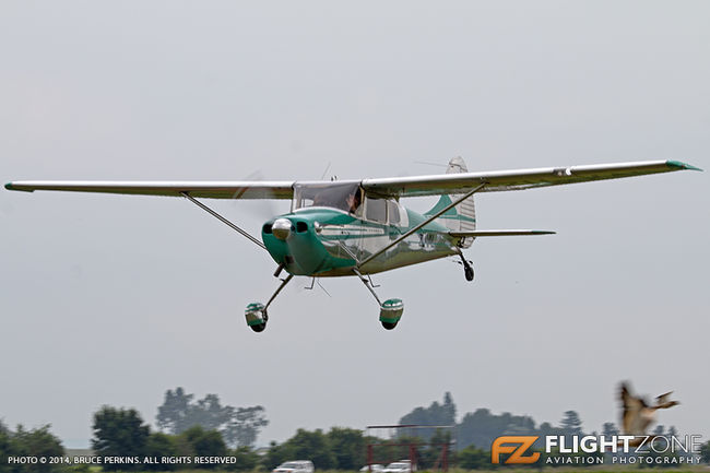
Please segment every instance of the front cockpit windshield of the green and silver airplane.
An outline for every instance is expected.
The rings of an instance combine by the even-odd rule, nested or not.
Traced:
[[[296,184],[293,210],[308,206],[329,206],[358,214],[362,211],[363,191],[358,182]]]

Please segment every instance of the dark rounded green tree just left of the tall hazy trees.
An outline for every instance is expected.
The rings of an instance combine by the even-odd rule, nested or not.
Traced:
[[[100,457],[140,457],[145,454],[150,427],[143,425],[134,409],[104,405],[94,414],[92,448]],[[138,464],[104,464],[104,470],[137,470]]]

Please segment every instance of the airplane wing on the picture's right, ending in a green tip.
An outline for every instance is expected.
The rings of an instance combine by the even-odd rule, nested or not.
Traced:
[[[363,188],[366,191],[392,197],[439,196],[442,193],[463,193],[481,184],[485,184],[482,189],[483,192],[492,192],[617,179],[683,169],[701,170],[678,161],[640,161],[587,166],[496,170],[492,173],[458,173],[365,179],[363,180]]]

